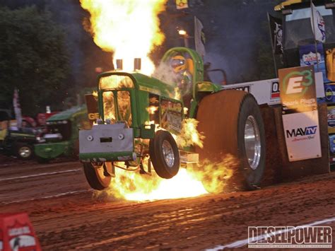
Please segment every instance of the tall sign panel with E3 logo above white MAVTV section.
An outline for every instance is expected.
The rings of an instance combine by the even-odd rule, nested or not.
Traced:
[[[314,67],[280,69],[278,74],[288,160],[320,158]]]

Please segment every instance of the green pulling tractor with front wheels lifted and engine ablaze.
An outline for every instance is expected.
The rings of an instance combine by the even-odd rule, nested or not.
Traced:
[[[239,163],[237,187],[257,187],[264,172],[265,134],[255,98],[204,81],[201,57],[185,47],[168,50],[153,76],[107,71],[98,76],[98,93],[86,95],[93,127],[79,132],[79,158],[90,186],[108,187],[119,162],[140,173],[150,173],[152,164],[158,176],[170,179],[180,166],[220,162],[230,154]],[[187,118],[199,121],[203,148],[177,145]]]

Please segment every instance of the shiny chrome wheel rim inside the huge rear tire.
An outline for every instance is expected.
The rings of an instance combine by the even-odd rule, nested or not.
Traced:
[[[255,170],[261,158],[261,136],[256,119],[252,115],[249,115],[245,122],[245,153],[250,168]]]

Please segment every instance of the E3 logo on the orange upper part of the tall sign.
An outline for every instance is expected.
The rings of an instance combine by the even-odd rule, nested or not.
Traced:
[[[312,84],[312,71],[292,71],[283,79],[283,91],[286,94],[293,94],[298,98],[305,95]]]

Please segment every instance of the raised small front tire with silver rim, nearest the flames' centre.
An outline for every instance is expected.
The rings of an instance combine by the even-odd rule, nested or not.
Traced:
[[[170,179],[180,168],[177,143],[170,132],[159,130],[149,142],[149,153],[153,168],[159,177]]]

